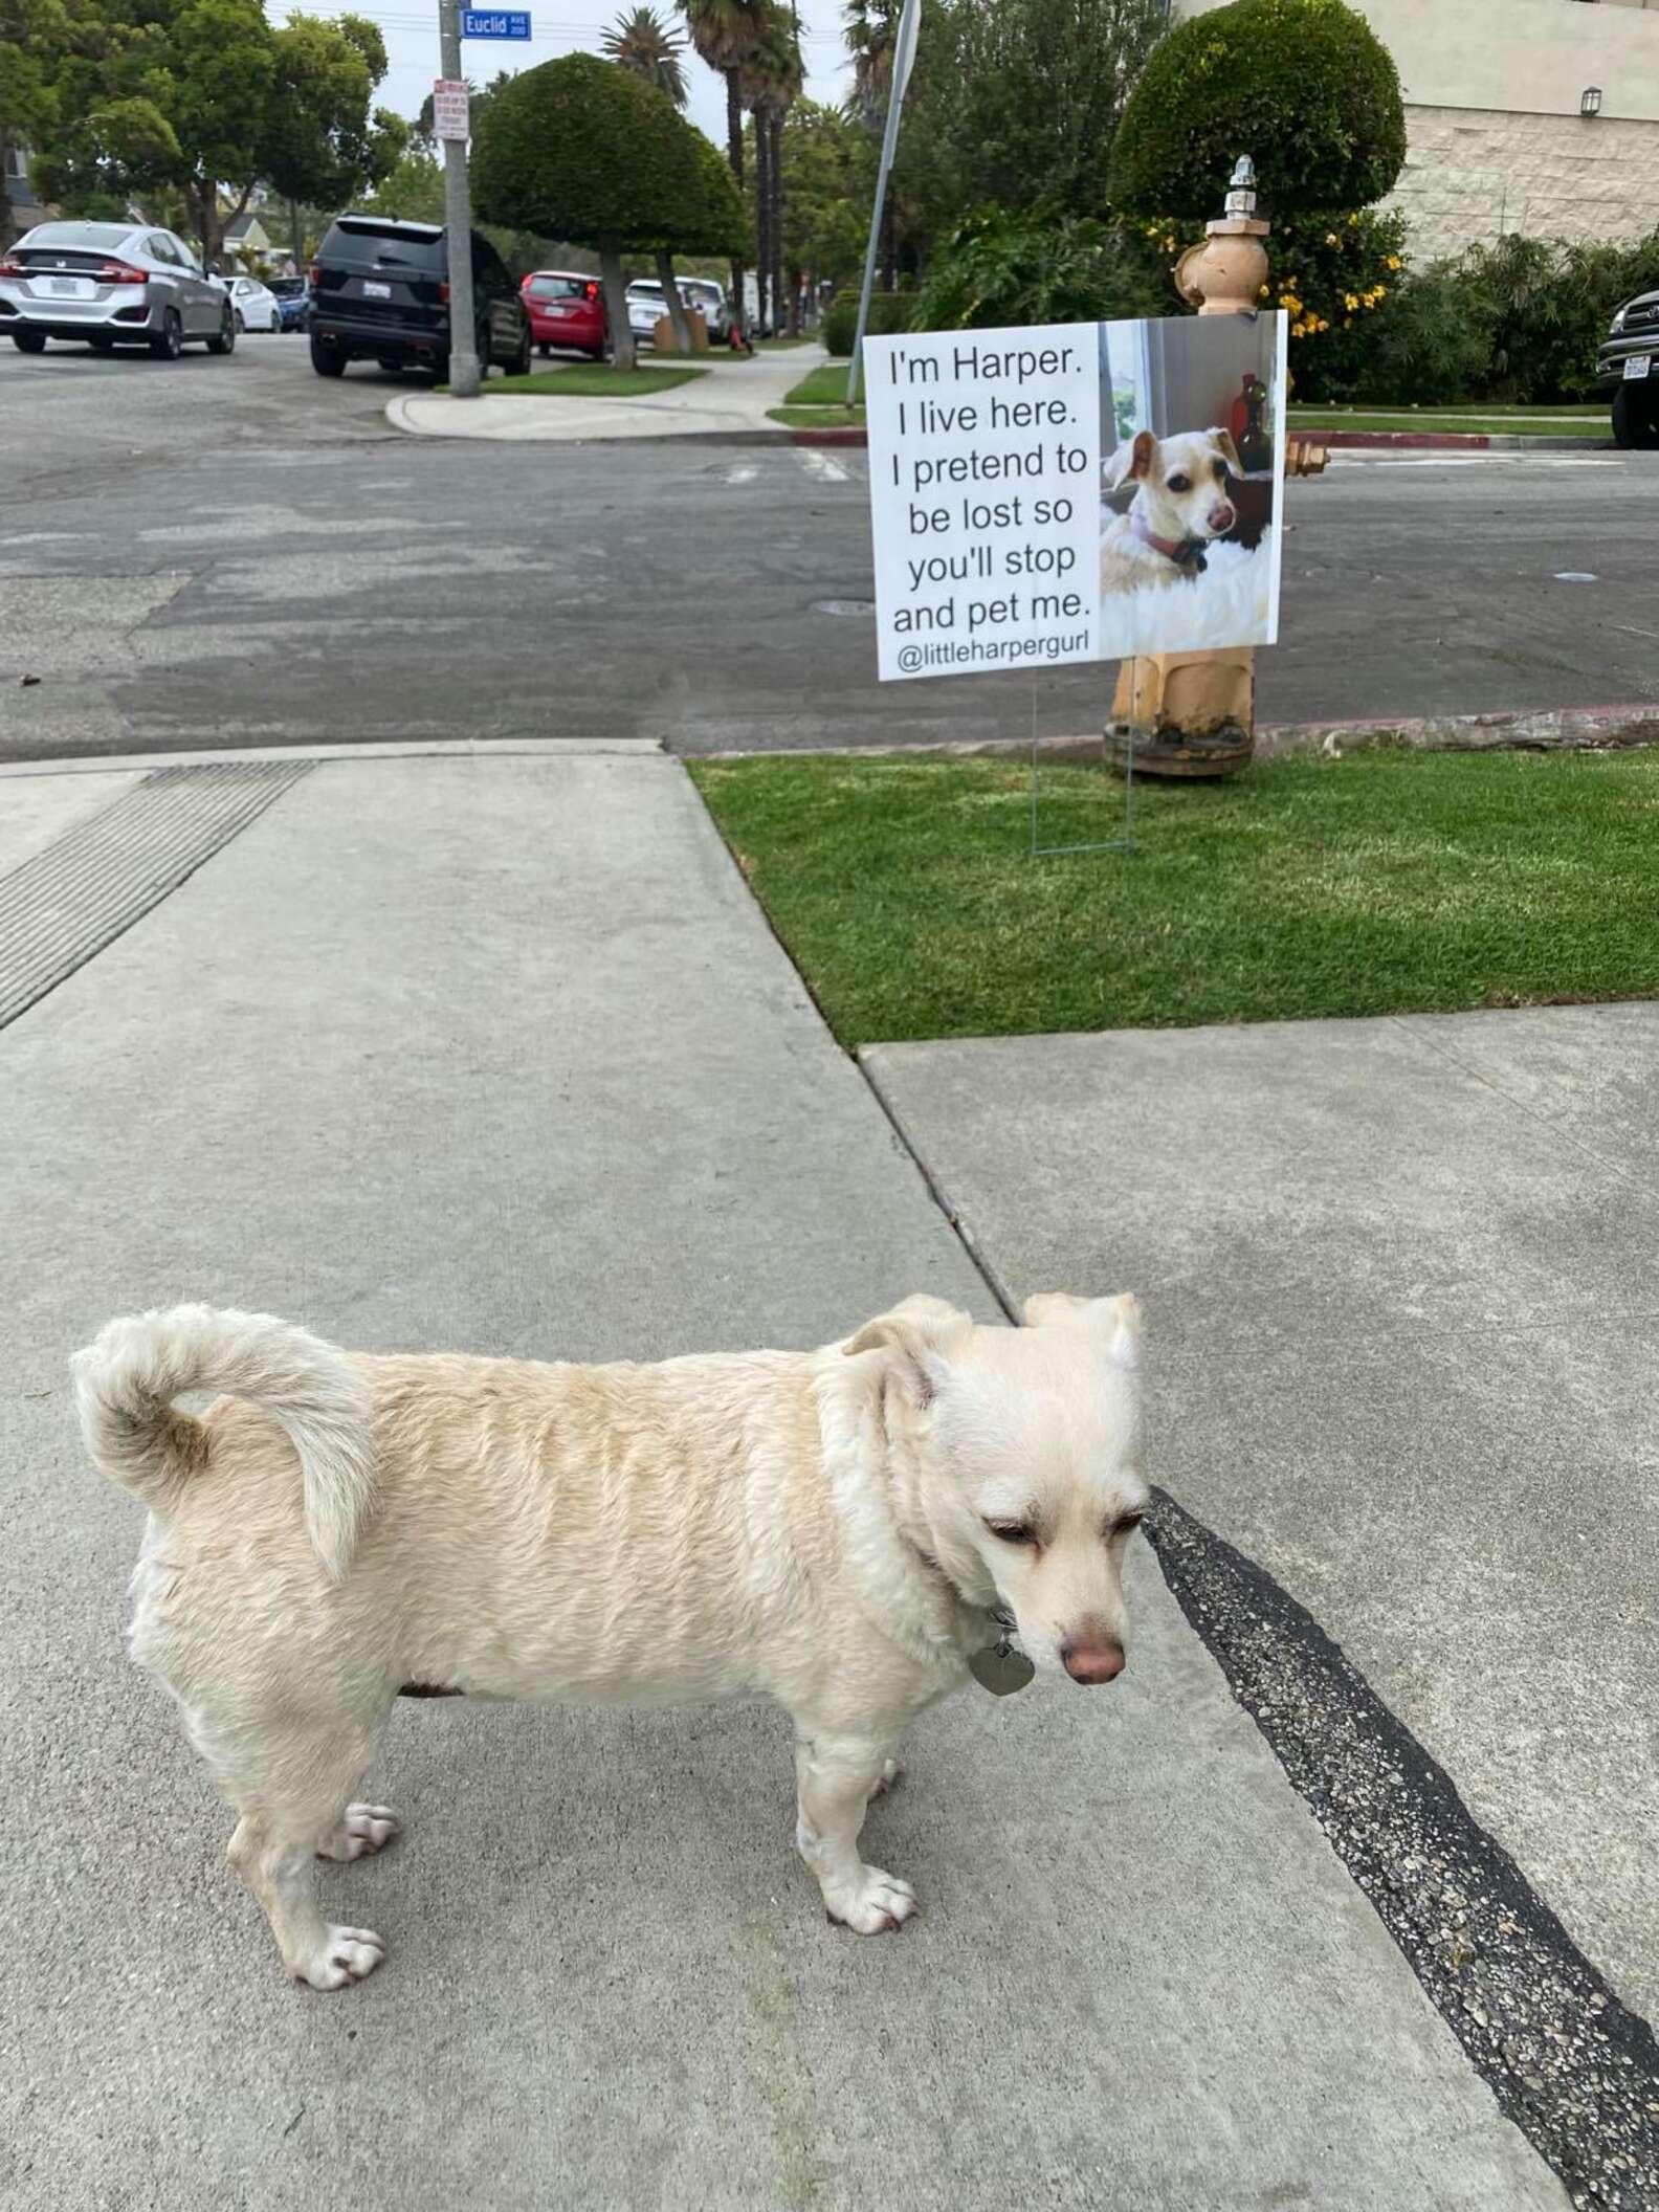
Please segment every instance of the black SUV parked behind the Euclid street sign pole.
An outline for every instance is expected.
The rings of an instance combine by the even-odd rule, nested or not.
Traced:
[[[431,369],[449,378],[449,232],[440,223],[398,223],[387,215],[338,215],[316,250],[312,281],[312,367],[345,376],[347,361],[383,369]],[[473,230],[473,314],[478,367],[509,376],[531,367],[531,319],[507,263]]]

